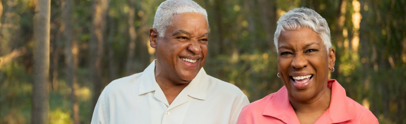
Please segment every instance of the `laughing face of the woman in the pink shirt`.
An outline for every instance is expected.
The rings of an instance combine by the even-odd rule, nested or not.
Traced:
[[[308,101],[328,90],[335,51],[326,49],[319,34],[309,28],[282,32],[278,49],[278,70],[290,98]]]

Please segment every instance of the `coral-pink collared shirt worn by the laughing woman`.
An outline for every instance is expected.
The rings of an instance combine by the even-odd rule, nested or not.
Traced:
[[[378,124],[378,119],[367,108],[346,96],[344,88],[335,80],[328,79],[331,89],[330,107],[315,124]],[[269,94],[245,106],[237,124],[300,124],[290,105],[287,90],[283,86],[278,92]]]

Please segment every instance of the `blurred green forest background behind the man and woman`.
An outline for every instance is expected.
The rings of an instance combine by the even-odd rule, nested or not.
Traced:
[[[104,86],[155,59],[148,32],[162,1],[50,0],[49,81],[41,89],[49,90],[49,123],[89,124]],[[251,102],[283,86],[276,21],[304,6],[329,24],[337,57],[331,78],[380,123],[406,124],[406,0],[195,1],[209,17],[205,70]],[[35,113],[34,15],[34,0],[0,0],[0,124],[30,123]]]

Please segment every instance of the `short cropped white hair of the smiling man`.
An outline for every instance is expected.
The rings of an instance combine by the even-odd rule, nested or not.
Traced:
[[[163,37],[169,26],[173,24],[175,15],[182,13],[200,13],[207,20],[207,12],[199,4],[192,0],[166,0],[162,2],[156,10],[153,26],[158,32],[158,36]]]

